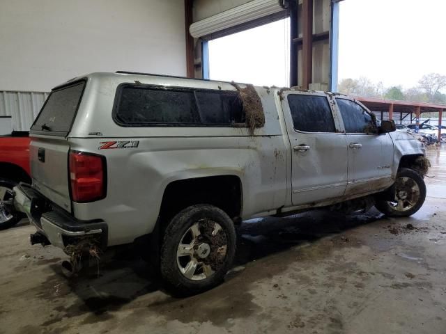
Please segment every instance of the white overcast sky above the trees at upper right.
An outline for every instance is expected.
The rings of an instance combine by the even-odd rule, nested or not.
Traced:
[[[446,75],[445,0],[344,0],[339,14],[339,81],[367,77],[385,87]]]

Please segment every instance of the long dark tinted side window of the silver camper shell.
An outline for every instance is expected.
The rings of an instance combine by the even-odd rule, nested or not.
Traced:
[[[245,122],[236,92],[130,84],[118,88],[114,120],[130,127],[224,127]]]

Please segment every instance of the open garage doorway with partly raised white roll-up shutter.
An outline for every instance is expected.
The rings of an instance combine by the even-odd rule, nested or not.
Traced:
[[[289,13],[286,0],[194,1],[195,70],[205,79],[289,86]]]

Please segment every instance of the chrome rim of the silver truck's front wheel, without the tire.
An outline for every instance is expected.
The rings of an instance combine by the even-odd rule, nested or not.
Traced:
[[[410,177],[399,177],[394,185],[394,200],[389,202],[392,209],[404,212],[417,205],[420,199],[420,187],[415,180]]]

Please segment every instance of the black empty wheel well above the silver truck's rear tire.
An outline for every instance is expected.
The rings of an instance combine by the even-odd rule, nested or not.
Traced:
[[[234,175],[197,177],[174,181],[164,191],[160,209],[162,221],[169,220],[190,205],[206,203],[238,218],[242,209],[242,186]]]

